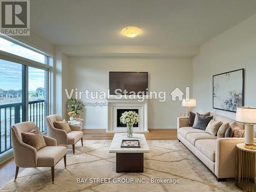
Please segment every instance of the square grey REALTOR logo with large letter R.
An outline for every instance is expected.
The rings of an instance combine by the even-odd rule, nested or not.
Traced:
[[[0,0],[1,29],[5,35],[30,35],[30,0]]]

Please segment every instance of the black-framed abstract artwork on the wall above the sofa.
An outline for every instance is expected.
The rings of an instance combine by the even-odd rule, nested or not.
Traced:
[[[244,105],[244,69],[212,76],[212,106],[236,113]]]

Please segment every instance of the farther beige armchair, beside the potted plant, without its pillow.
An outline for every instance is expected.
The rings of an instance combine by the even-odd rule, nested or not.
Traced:
[[[81,132],[80,126],[69,124],[71,132],[66,133],[63,130],[55,128],[55,125],[54,125],[55,121],[62,121],[62,118],[59,115],[49,115],[46,117],[48,136],[56,139],[58,145],[72,144],[73,154],[75,155],[75,144],[79,140],[81,140],[81,143],[82,143],[82,138],[83,138],[83,132]],[[82,143],[82,146],[83,146],[83,143]]]

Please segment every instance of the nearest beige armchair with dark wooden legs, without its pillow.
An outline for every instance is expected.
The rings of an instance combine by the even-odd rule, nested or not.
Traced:
[[[30,132],[36,127],[33,122],[22,122],[12,125],[12,146],[13,155],[16,164],[16,173],[14,181],[18,176],[19,167],[51,167],[52,183],[54,183],[54,166],[63,158],[66,168],[65,146],[57,146],[56,139],[44,136],[46,147],[36,151],[34,147],[28,145],[22,140],[22,133]]]

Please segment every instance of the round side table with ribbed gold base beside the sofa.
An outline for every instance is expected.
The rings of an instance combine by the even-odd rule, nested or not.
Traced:
[[[246,191],[256,192],[256,150],[249,150],[244,143],[237,144],[236,185]]]

